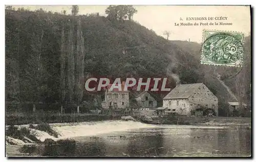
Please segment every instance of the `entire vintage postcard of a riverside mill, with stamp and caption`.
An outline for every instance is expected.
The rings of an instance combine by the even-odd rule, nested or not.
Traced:
[[[5,6],[7,157],[251,157],[250,6]]]

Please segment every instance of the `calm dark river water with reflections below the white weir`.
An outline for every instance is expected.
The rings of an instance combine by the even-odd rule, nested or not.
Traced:
[[[90,130],[88,130],[90,131]],[[241,157],[251,155],[251,130],[247,127],[154,125],[97,136],[77,136],[67,156],[82,157]],[[7,146],[10,156],[24,156],[22,146]],[[41,156],[36,146],[28,156]],[[58,156],[58,155],[56,155]]]

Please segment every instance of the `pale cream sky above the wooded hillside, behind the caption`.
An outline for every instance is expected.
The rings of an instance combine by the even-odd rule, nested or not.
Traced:
[[[71,14],[72,6],[13,6],[16,9],[37,10],[42,8],[46,11],[61,12],[66,10]],[[82,6],[79,5],[79,14],[96,13],[105,15],[108,6]],[[248,6],[134,6],[138,13],[133,19],[148,29],[154,30],[163,36],[164,31],[170,31],[169,40],[190,40],[202,42],[203,30],[234,31],[245,35],[250,33],[250,8]],[[225,20],[187,20],[187,17],[226,17]],[[183,20],[180,20],[183,19]],[[208,25],[198,26],[175,26],[175,23],[208,22]],[[209,25],[210,22],[232,23],[232,25]]]

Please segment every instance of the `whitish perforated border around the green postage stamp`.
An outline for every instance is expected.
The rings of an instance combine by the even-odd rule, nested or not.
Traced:
[[[244,47],[244,44],[245,44],[245,33],[243,32],[236,32],[236,31],[221,31],[221,30],[206,30],[204,29],[203,32],[202,32],[202,47],[203,48],[203,44],[204,44],[204,32],[222,32],[222,33],[237,33],[237,34],[243,34],[243,41],[242,41],[242,46],[243,46],[243,55],[242,55],[242,59],[241,59],[241,66],[239,65],[233,65],[233,64],[214,64],[214,63],[203,63],[203,49],[201,50],[201,60],[200,60],[200,63],[202,65],[214,65],[214,66],[230,66],[230,67],[243,67],[243,63],[244,63],[244,50],[245,50],[245,47]]]

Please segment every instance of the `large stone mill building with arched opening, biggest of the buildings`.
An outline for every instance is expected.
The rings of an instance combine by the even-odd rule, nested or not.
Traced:
[[[177,85],[163,98],[165,113],[218,116],[218,98],[203,84]]]

